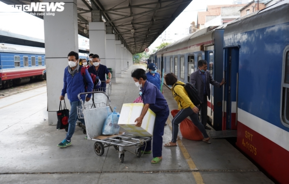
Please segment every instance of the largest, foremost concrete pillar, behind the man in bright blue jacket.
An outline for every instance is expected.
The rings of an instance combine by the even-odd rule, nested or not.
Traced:
[[[59,2],[45,0],[44,2]],[[67,55],[78,53],[77,1],[65,0],[63,12],[44,16],[45,59],[47,78],[48,124],[57,124],[56,111],[63,88],[64,69],[68,66]],[[70,109],[65,95],[66,106]]]

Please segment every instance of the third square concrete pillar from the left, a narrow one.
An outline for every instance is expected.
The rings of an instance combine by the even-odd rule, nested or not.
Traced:
[[[106,51],[105,51],[106,67],[112,69],[111,83],[116,83],[116,63],[115,63],[115,36],[114,34],[106,34]]]

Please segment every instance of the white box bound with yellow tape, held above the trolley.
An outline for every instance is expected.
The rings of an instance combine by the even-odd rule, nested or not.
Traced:
[[[125,103],[121,108],[121,113],[118,119],[118,125],[127,131],[127,133],[135,136],[153,136],[153,128],[155,125],[155,113],[149,109],[142,120],[142,126],[137,127],[134,122],[140,117],[143,103]]]

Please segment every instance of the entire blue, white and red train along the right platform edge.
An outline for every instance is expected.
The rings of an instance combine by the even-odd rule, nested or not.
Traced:
[[[289,183],[289,1],[192,33],[150,55],[158,72],[190,82],[198,61],[213,79],[209,124],[236,130],[236,146],[279,183]]]

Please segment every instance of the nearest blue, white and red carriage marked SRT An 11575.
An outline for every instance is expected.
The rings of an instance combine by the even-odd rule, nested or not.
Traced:
[[[289,183],[288,0],[226,27],[224,71],[224,127],[237,124],[237,146]]]

